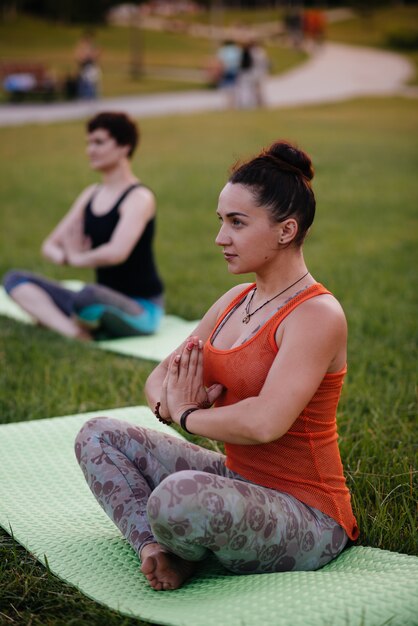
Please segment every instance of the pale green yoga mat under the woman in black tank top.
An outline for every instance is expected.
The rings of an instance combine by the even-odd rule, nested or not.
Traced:
[[[83,283],[76,280],[66,280],[63,281],[63,285],[69,289],[80,289]],[[26,324],[33,323],[31,317],[9,298],[3,287],[0,287],[0,315],[11,317]],[[155,335],[95,341],[92,342],[92,345],[125,356],[162,361],[192,333],[197,324],[197,321],[187,321],[175,315],[164,315],[161,326]]]

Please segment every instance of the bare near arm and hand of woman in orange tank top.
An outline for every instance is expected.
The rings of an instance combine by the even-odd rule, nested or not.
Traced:
[[[280,349],[258,396],[194,411],[188,417],[188,429],[237,444],[268,443],[284,435],[324,375],[345,365],[346,322],[338,303],[330,298],[321,296],[305,303],[281,325]],[[196,378],[202,371],[201,350],[183,349],[180,360],[172,359],[167,397],[175,422],[184,410],[196,406]]]

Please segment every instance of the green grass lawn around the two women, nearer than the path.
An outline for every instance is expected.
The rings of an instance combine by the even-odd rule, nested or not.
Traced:
[[[305,256],[349,323],[338,419],[360,543],[409,554],[416,552],[417,126],[415,102],[403,99],[146,119],[134,159],[158,198],[168,311],[194,319],[237,281],[214,245],[228,167],[277,137],[311,153],[318,211]],[[90,279],[39,255],[43,236],[95,180],[83,143],[78,122],[0,129],[0,272],[25,267]],[[1,422],[144,403],[151,369],[0,318]],[[57,581],[6,533],[0,588],[0,623],[2,613],[5,624],[138,623]]]

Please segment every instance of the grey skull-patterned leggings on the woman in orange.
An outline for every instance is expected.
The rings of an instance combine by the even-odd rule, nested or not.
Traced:
[[[75,451],[91,491],[133,549],[158,542],[189,561],[209,552],[236,573],[315,570],[347,535],[293,496],[250,483],[225,456],[154,430],[94,418]]]

